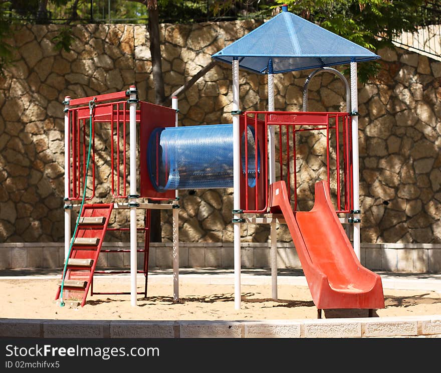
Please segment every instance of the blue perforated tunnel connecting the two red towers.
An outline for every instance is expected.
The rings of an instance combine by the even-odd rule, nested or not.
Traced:
[[[254,129],[248,127],[248,184],[256,183]],[[245,133],[242,135],[245,170]],[[148,173],[158,192],[233,186],[233,124],[156,128],[148,141]],[[258,152],[258,174],[260,153]]]

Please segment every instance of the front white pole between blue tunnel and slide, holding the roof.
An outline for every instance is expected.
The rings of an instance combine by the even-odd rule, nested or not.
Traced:
[[[233,60],[233,209],[241,209],[241,150],[239,128],[239,60]],[[241,216],[233,214],[235,309],[241,309]]]

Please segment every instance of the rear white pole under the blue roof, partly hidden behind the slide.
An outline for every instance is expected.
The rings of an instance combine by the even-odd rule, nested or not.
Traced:
[[[274,75],[273,62],[270,60],[268,74],[268,111],[274,111]],[[276,143],[274,141],[274,126],[269,127],[269,163],[270,163],[270,184],[276,181]],[[289,185],[287,185],[289,188]],[[277,299],[277,227],[276,223],[270,223],[270,259],[271,259],[271,297]]]

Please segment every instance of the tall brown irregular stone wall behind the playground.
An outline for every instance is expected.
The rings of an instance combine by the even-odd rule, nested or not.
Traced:
[[[168,95],[210,61],[210,55],[256,28],[252,21],[161,25]],[[149,40],[142,25],[74,27],[72,51],[56,52],[58,26],[25,26],[14,34],[17,63],[0,77],[0,241],[62,241],[64,97],[125,90],[154,102]],[[441,63],[401,49],[378,52],[382,70],[359,87],[362,241],[441,242]],[[275,79],[276,110],[300,110],[311,71]],[[241,109],[265,110],[266,77],[241,72]],[[329,73],[309,86],[312,111],[345,110],[344,87]],[[216,65],[179,97],[182,125],[231,121],[231,69]],[[325,159],[323,138],[302,139],[299,199],[307,209]],[[105,155],[103,155],[105,156]],[[100,169],[100,179],[110,170]],[[98,196],[105,200],[106,188]],[[181,191],[180,239],[231,242],[232,190]],[[126,217],[114,217],[126,224]],[[162,213],[163,241],[171,215]],[[279,240],[291,241],[281,226]],[[242,225],[244,241],[266,242],[268,227]]]

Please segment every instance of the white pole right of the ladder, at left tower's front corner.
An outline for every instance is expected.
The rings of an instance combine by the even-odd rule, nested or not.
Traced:
[[[130,123],[130,304],[136,306],[136,274],[137,261],[137,235],[136,235],[136,87],[129,88],[129,123]]]

